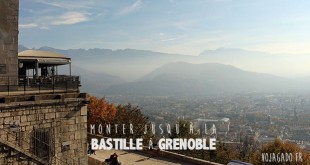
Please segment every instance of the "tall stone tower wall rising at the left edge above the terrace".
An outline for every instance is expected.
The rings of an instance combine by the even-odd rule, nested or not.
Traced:
[[[18,9],[19,0],[0,0],[0,77],[18,75]]]

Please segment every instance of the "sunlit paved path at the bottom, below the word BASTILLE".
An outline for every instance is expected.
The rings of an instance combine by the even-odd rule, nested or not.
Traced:
[[[91,157],[104,161],[109,158],[110,155],[116,153],[118,155],[118,160],[121,161],[122,165],[192,165],[189,163],[178,162],[177,160],[155,157],[149,158],[147,154],[135,151],[120,151],[120,150],[99,150],[96,151],[96,155],[91,155]],[[91,164],[90,164],[91,165]]]

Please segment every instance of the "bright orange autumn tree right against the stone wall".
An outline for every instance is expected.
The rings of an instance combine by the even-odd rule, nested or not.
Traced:
[[[88,124],[111,123],[114,120],[117,112],[114,104],[107,102],[104,97],[91,96],[89,101],[90,103],[87,106]]]

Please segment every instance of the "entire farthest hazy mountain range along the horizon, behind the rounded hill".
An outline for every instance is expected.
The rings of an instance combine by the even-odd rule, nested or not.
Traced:
[[[24,50],[20,46],[20,50]],[[243,49],[219,48],[205,50],[199,56],[167,54],[146,50],[68,49],[41,47],[65,54],[73,64],[94,72],[105,72],[125,79],[136,80],[169,62],[221,63],[242,70],[268,73],[283,77],[306,77],[310,75],[310,56],[303,54],[270,54]]]

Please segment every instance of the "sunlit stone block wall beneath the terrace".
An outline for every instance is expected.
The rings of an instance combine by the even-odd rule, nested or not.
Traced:
[[[86,94],[6,96],[1,99],[0,140],[38,157],[48,150],[52,164],[87,164]],[[44,137],[46,135],[48,137]],[[38,144],[36,138],[47,139],[49,149],[43,146],[40,151],[40,145],[35,144]],[[16,163],[19,160],[9,161]]]

